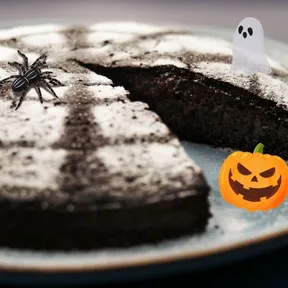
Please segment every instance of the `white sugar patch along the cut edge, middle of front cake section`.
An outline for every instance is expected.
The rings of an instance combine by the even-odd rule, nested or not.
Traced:
[[[146,108],[142,102],[112,103],[95,107],[94,116],[107,138],[167,135],[166,125]]]

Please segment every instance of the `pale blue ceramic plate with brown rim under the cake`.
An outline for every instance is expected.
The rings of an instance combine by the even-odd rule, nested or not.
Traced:
[[[190,29],[229,41],[234,32],[197,26]],[[288,45],[269,39],[266,45],[266,52],[271,58],[283,63],[283,55],[287,55],[284,64],[288,67]],[[288,201],[278,209],[255,213],[226,204],[219,193],[217,181],[220,166],[231,151],[188,142],[183,142],[183,146],[203,168],[212,187],[209,200],[213,217],[204,234],[158,245],[89,253],[36,253],[2,249],[0,280],[18,283],[119,282],[207,268],[288,243]]]

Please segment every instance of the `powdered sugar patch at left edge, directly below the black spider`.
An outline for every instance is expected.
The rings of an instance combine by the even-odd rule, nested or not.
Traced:
[[[0,101],[0,139],[3,144],[27,141],[42,148],[60,139],[68,108],[53,103],[41,105],[38,98],[36,100],[23,101],[17,111],[10,108],[10,101]]]

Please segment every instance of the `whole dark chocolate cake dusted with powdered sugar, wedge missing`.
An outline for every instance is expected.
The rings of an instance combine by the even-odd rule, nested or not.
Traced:
[[[0,31],[7,63],[48,54],[63,83],[19,110],[0,87],[0,246],[98,249],[205,231],[209,185],[180,140],[286,157],[288,71],[230,71],[231,43],[138,23]]]

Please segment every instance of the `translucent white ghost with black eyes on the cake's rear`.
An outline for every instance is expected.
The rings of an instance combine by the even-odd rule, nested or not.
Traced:
[[[265,55],[264,30],[259,20],[247,17],[237,26],[233,36],[232,70],[247,74],[270,74],[271,67]]]

